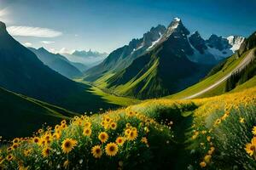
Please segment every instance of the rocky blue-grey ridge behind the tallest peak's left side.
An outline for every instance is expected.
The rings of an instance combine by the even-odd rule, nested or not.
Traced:
[[[165,26],[152,27],[142,38],[132,39],[128,45],[114,50],[100,65],[96,65],[85,72],[85,80],[95,81],[106,72],[117,72],[131,65],[134,59],[150,50],[165,31]]]

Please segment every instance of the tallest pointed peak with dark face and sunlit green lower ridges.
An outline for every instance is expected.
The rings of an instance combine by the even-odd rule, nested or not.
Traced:
[[[108,79],[107,88],[114,94],[147,99],[173,94],[198,82],[212,65],[188,59],[195,53],[188,36],[182,20],[175,18],[148,53]]]

